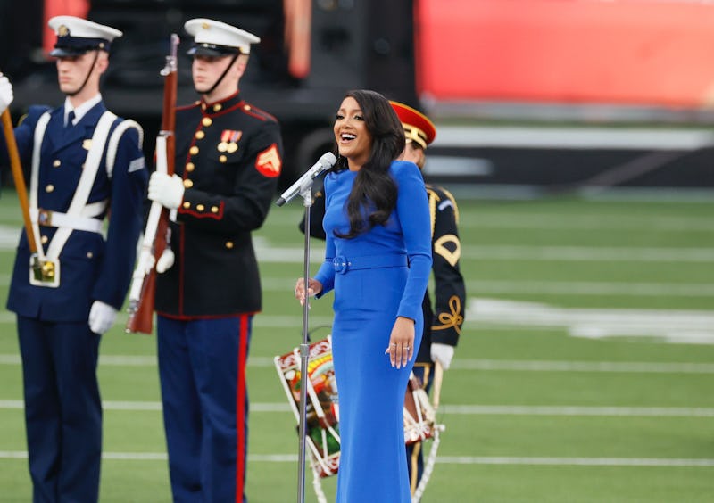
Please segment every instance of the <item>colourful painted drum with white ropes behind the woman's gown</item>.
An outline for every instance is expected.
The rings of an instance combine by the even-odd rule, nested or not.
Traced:
[[[305,443],[311,453],[311,466],[317,475],[337,473],[340,455],[339,403],[332,364],[332,339],[327,337],[310,345],[308,356],[308,404],[305,408]],[[300,353],[292,352],[274,359],[287,400],[300,421]],[[404,396],[404,443],[430,439],[435,435],[435,409],[419,379],[411,374]]]

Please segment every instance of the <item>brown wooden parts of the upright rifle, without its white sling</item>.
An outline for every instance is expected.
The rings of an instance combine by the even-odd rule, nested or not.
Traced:
[[[166,66],[162,70],[163,76],[163,110],[162,110],[162,130],[159,136],[163,141],[157,144],[165,145],[166,173],[173,175],[175,169],[176,140],[174,131],[176,129],[176,95],[179,84],[179,73],[177,71],[177,50],[179,48],[179,36],[171,35],[170,55],[166,56]],[[157,153],[158,157],[158,153]],[[157,204],[157,203],[153,203]],[[146,231],[149,232],[149,224]],[[146,234],[146,233],[145,233]],[[154,263],[158,262],[162,253],[169,245],[169,210],[165,208],[161,211],[158,224],[155,227],[153,236]],[[138,267],[142,264],[139,263]],[[135,275],[136,276],[136,275]],[[137,278],[135,277],[135,281]],[[155,266],[143,276],[141,293],[138,300],[129,299],[129,319],[125,331],[141,334],[151,334],[154,323],[154,298],[156,293],[156,268]],[[136,305],[135,305],[136,304]]]

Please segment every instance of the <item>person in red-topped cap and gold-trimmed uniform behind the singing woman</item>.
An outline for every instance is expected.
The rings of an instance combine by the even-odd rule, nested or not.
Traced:
[[[424,168],[427,145],[436,137],[436,128],[427,116],[408,105],[390,102],[402,121],[406,145],[402,159]],[[459,209],[452,194],[444,187],[426,184],[431,213],[432,272],[434,275],[434,301],[429,292],[424,295],[424,332],[414,364],[414,375],[424,388],[431,390],[434,362],[444,370],[451,366],[454,348],[459,342],[466,307],[466,287],[459,268],[461,242],[459,240]],[[310,213],[310,235],[325,239],[322,218],[325,215],[325,197],[316,187]],[[299,224],[304,233],[304,220]],[[428,323],[427,320],[431,320]],[[407,446],[411,493],[416,491],[421,479],[423,456],[421,442]]]

